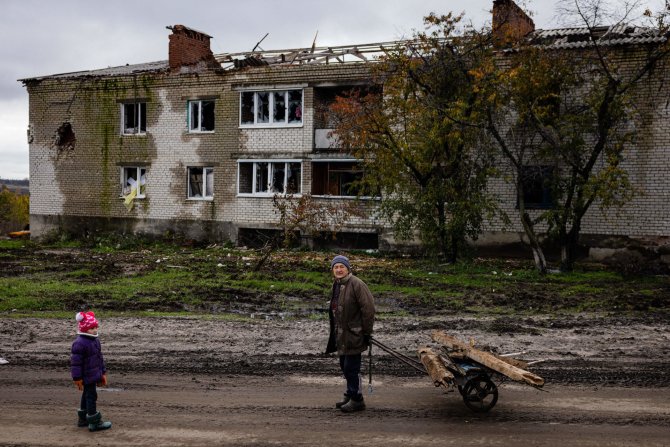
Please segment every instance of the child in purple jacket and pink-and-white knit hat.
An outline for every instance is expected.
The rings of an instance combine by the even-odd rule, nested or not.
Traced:
[[[98,320],[93,312],[79,312],[76,320],[79,330],[72,343],[70,364],[72,380],[77,389],[82,391],[77,426],[88,426],[89,431],[106,430],[112,427],[112,423],[103,422],[102,415],[96,409],[96,386],[107,386],[107,369],[98,339]]]

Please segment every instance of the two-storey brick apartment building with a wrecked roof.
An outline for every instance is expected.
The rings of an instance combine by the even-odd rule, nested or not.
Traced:
[[[503,7],[524,35],[579,50],[584,30],[535,30],[511,0],[493,2],[494,21]],[[166,61],[21,80],[30,99],[33,237],[114,231],[247,244],[279,230],[275,194],[356,199],[351,185],[361,164],[337,147],[329,104],[369,85],[374,55],[399,42],[215,55],[206,33],[169,29]],[[644,37],[620,32],[622,47]],[[670,236],[670,96],[663,88],[662,104],[652,104],[654,121],[641,129],[648,138],[638,139],[646,147],[627,162],[644,193],[606,218],[594,207],[586,239]],[[513,216],[513,185],[492,187]],[[541,209],[542,186],[535,189]],[[336,243],[399,247],[372,212],[378,199],[356,203],[367,212],[349,219]],[[521,233],[520,224],[491,222],[480,241],[505,247]]]

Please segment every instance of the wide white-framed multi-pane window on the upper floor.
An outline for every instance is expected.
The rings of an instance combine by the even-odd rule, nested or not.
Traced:
[[[240,93],[241,125],[301,125],[302,90]]]

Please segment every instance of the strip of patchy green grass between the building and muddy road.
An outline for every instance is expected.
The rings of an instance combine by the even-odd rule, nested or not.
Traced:
[[[50,251],[45,255],[44,250]],[[309,312],[328,299],[332,253],[277,252],[260,271],[252,271],[259,257],[253,250],[152,244],[129,237],[51,245],[2,240],[0,312],[70,315],[95,308],[153,316],[211,313],[240,321],[250,313],[324,317]],[[508,315],[670,309],[666,276],[624,277],[587,265],[569,274],[542,276],[528,260],[435,264],[363,252],[353,259],[375,298],[392,303],[384,304],[383,315],[389,317],[431,310]]]

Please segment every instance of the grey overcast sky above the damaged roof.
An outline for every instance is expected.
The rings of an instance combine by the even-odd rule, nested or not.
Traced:
[[[658,0],[661,1],[661,0]],[[651,4],[658,3],[649,2]],[[521,2],[518,2],[521,4]],[[537,28],[556,1],[528,0]],[[662,3],[662,2],[661,2]],[[492,0],[0,0],[0,177],[28,177],[28,94],[17,79],[166,60],[166,26],[213,36],[215,54],[411,37],[430,12],[490,23]]]

